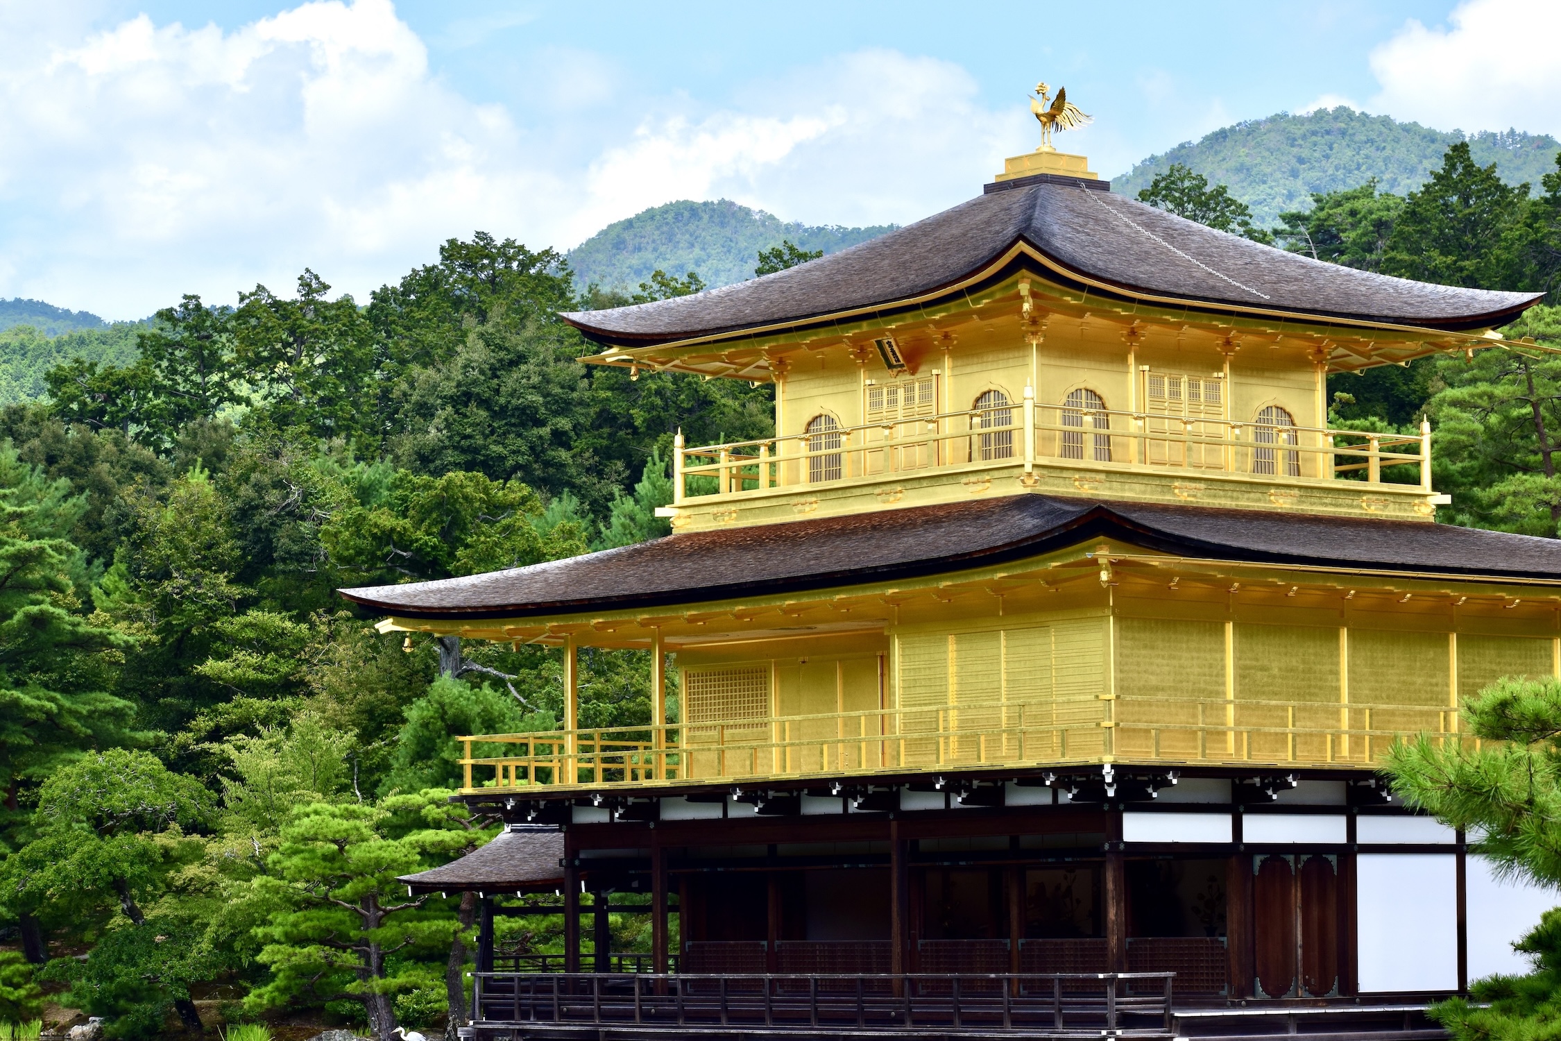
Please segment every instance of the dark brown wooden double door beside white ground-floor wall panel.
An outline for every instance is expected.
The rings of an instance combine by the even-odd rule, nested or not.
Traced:
[[[1325,997],[1339,979],[1333,857],[1269,854],[1253,865],[1252,960],[1263,997]]]

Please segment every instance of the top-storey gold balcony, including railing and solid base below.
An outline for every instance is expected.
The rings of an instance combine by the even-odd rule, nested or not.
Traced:
[[[1380,434],[1022,403],[673,456],[677,529],[1044,492],[1428,520],[1430,426]],[[1391,467],[1419,481],[1391,482]]]

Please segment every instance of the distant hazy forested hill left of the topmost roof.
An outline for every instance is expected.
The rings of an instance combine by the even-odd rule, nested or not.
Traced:
[[[684,200],[607,225],[570,250],[568,261],[582,287],[595,282],[603,289],[632,289],[657,268],[671,275],[698,272],[707,286],[727,286],[752,278],[754,254],[782,240],[835,253],[893,228],[813,228],[724,198]]]

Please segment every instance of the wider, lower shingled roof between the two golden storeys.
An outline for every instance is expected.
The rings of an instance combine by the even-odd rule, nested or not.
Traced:
[[[685,532],[470,577],[342,590],[404,618],[524,618],[899,581],[1119,538],[1182,556],[1561,579],[1561,542],[1427,521],[1016,495]]]

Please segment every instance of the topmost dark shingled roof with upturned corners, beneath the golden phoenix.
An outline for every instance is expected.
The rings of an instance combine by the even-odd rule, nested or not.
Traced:
[[[1097,186],[1099,183],[1096,183]],[[1160,297],[1389,325],[1505,325],[1541,293],[1431,286],[1325,264],[1214,231],[1083,181],[988,192],[899,231],[785,272],[564,318],[587,337],[648,346],[871,307],[979,275],[1019,242],[1124,297]],[[1007,186],[991,186],[1007,187]]]

